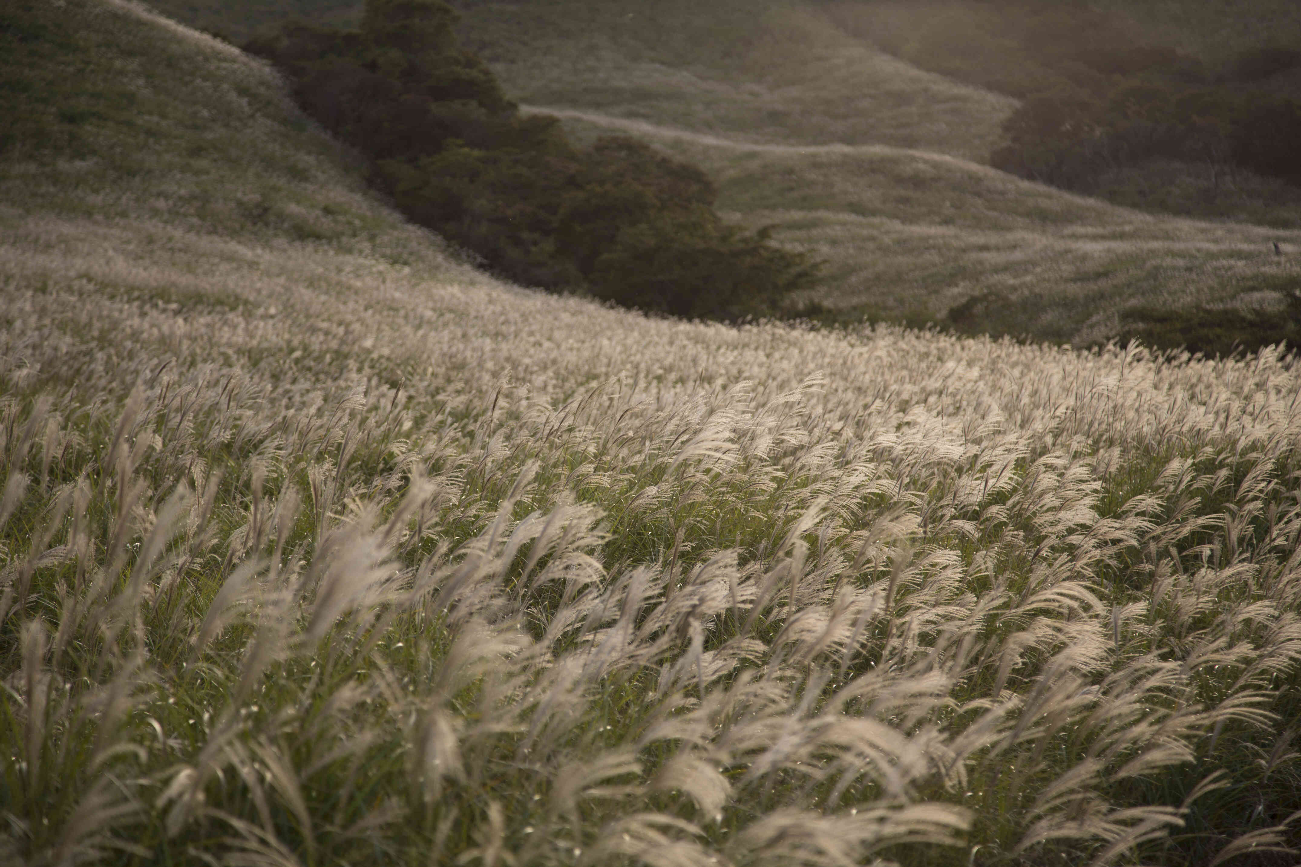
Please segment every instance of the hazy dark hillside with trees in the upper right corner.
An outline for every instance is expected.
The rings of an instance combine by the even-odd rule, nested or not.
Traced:
[[[821,8],[896,57],[1021,99],[989,156],[999,169],[1153,213],[1301,226],[1296,5],[1129,4],[1149,21],[1159,9],[1168,32],[1140,26],[1125,5]],[[1190,36],[1223,45],[1202,51]]]

